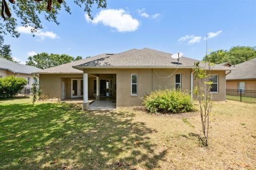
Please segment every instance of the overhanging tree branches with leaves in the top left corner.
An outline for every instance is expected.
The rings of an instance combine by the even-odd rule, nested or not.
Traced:
[[[59,4],[57,0],[53,0],[51,11],[47,11],[47,2],[48,1],[46,0],[40,2],[35,2],[33,0],[16,0],[14,4],[9,3],[8,6],[15,18],[6,18],[4,22],[0,23],[0,35],[2,35],[2,33],[4,35],[10,33],[13,37],[19,37],[20,34],[15,30],[17,26],[17,19],[19,19],[22,26],[30,26],[32,28],[31,32],[36,32],[38,29],[43,29],[41,21],[42,16],[46,21],[59,24],[58,14],[62,8],[71,14],[70,7],[65,1]],[[92,18],[92,5],[95,4],[98,8],[107,7],[106,0],[75,0],[74,3],[80,7],[84,7],[84,11],[90,18]]]

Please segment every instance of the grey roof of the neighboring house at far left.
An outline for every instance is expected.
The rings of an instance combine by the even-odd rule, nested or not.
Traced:
[[[24,73],[24,74],[31,74],[33,72],[41,70],[37,67],[15,63],[15,62],[6,60],[5,58],[2,58],[2,57],[0,57],[0,69],[9,70],[13,73]]]

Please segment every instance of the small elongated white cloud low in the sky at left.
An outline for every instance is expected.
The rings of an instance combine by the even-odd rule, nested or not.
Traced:
[[[26,34],[33,34],[31,33],[31,30],[33,30],[33,27],[23,27],[23,26],[19,26],[16,28],[16,30],[19,33],[26,33]],[[45,38],[51,38],[51,39],[55,39],[55,38],[59,38],[57,36],[56,33],[52,32],[52,31],[42,31],[42,30],[37,30],[36,32],[34,32],[34,35],[37,37],[40,37],[41,39],[45,39]]]

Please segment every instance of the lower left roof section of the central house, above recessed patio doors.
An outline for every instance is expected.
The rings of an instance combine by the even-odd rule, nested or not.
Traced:
[[[37,71],[36,73],[38,74],[57,74],[57,73],[58,74],[83,74],[83,71],[74,69],[72,66],[83,64],[83,63],[94,61],[94,60],[99,60],[100,58],[104,58],[107,56],[108,56],[107,54],[100,54],[93,57],[87,57],[82,60],[78,60],[78,61],[58,65],[55,67],[50,67],[48,69],[44,69],[41,71]]]

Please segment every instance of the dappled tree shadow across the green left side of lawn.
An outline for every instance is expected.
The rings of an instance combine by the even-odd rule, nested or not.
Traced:
[[[0,169],[151,169],[163,160],[129,112],[83,112],[68,103],[0,105]]]

